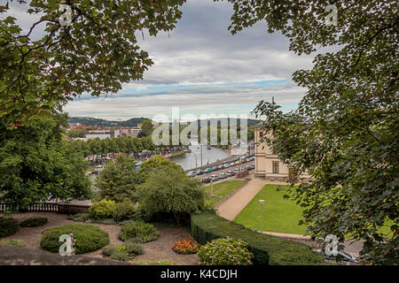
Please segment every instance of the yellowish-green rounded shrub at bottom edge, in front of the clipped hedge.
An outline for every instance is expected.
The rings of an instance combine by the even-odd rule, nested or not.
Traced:
[[[249,265],[253,255],[246,242],[230,237],[217,239],[202,246],[198,256],[203,265]]]

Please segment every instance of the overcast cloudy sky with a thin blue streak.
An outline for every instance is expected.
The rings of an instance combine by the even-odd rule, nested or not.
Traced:
[[[293,83],[292,74],[309,69],[313,57],[289,52],[286,37],[267,34],[264,22],[232,35],[229,3],[188,0],[182,10],[182,19],[169,34],[146,35],[144,40],[139,36],[140,47],[154,62],[144,80],[123,85],[117,95],[74,99],[65,111],[70,116],[125,120],[170,117],[172,106],[178,106],[182,115],[198,118],[251,116],[256,103],[271,101],[271,96],[283,110],[296,108],[306,90]],[[10,13],[28,27],[23,12]]]

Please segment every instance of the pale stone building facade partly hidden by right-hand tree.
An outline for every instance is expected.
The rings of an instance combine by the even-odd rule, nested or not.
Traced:
[[[286,164],[278,159],[278,156],[272,152],[270,147],[262,140],[262,129],[255,126],[255,177],[262,177],[266,180],[286,180],[290,170]],[[309,174],[301,175],[301,178],[309,179]]]

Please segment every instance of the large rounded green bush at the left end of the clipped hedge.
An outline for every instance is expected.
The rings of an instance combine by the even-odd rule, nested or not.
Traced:
[[[205,207],[205,191],[200,181],[186,176],[178,167],[151,171],[145,183],[137,187],[140,210],[150,214],[173,213],[177,226],[182,215]]]

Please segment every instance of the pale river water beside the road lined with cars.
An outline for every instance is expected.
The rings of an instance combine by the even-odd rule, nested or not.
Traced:
[[[226,157],[230,157],[231,153],[223,149],[214,148],[207,149],[207,146],[197,144],[191,145],[191,153],[186,153],[179,157],[172,157],[171,160],[183,167],[184,170],[190,170],[201,166],[201,147],[202,147],[202,165],[213,163]]]

